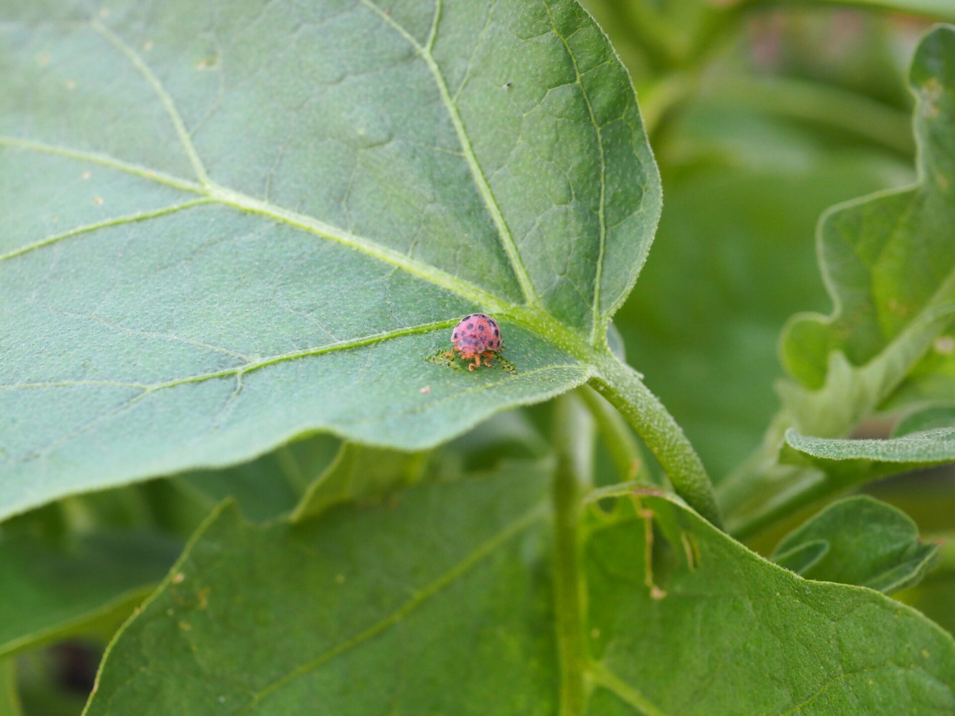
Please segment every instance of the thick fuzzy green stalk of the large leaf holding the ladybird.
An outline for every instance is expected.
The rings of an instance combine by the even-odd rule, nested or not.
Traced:
[[[677,495],[712,524],[721,525],[712,483],[690,440],[637,372],[609,353],[599,359],[600,372],[590,379],[643,438],[667,473]]]

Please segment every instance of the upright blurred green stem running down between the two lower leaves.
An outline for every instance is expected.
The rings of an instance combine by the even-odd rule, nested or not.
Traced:
[[[578,524],[581,494],[590,482],[593,424],[573,395],[558,398],[554,413],[554,601],[561,660],[561,716],[581,716],[586,707],[589,660],[584,641]]]

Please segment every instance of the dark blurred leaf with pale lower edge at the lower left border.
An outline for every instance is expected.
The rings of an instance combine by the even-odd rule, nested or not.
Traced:
[[[100,532],[66,546],[15,535],[0,541],[0,656],[118,626],[175,561],[181,545],[151,533]]]

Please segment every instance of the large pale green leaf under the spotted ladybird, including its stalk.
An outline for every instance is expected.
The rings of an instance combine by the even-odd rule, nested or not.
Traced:
[[[655,401],[605,327],[657,169],[574,0],[14,0],[0,35],[0,516],[302,432],[420,450],[592,376]],[[517,374],[425,360],[475,310]]]

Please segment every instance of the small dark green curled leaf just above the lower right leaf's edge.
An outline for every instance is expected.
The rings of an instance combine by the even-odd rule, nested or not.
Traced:
[[[847,497],[813,516],[776,546],[773,561],[807,579],[859,584],[886,594],[923,579],[938,557],[902,510]]]

